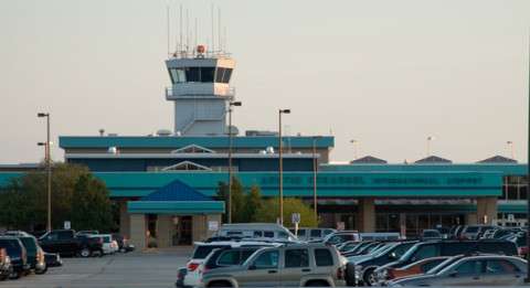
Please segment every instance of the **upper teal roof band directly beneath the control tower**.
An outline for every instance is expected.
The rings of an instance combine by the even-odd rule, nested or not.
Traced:
[[[312,136],[310,137],[283,137],[284,143],[290,147],[312,148]],[[325,136],[315,141],[317,148],[333,147],[335,138]],[[233,148],[261,148],[277,147],[278,137],[232,137]],[[148,137],[148,136],[118,136],[118,137],[87,137],[87,136],[61,136],[59,146],[68,148],[182,148],[197,145],[204,148],[227,148],[229,137]]]

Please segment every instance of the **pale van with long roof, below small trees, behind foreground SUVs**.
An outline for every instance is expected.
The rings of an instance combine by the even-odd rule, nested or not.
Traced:
[[[275,223],[223,224],[218,235],[298,241],[286,227]]]

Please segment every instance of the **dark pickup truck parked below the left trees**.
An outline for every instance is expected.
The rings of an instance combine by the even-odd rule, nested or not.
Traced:
[[[103,255],[103,239],[99,237],[77,237],[74,230],[55,230],[39,237],[39,245],[47,253],[61,256],[88,257],[94,253]]]

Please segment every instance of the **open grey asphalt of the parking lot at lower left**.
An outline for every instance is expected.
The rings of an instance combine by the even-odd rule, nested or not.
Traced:
[[[3,287],[174,287],[177,269],[191,247],[131,252],[91,258],[63,258],[62,267],[0,282]]]

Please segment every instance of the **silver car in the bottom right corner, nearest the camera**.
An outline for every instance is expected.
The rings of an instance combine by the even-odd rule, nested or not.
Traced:
[[[421,286],[522,286],[528,264],[512,256],[456,256],[457,260],[436,274],[396,278],[391,287]],[[444,264],[441,264],[444,265]]]

